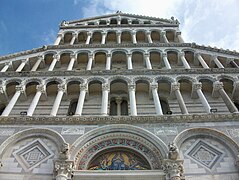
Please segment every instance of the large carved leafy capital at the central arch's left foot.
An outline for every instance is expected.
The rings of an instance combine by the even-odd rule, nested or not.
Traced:
[[[73,170],[74,170],[74,161],[54,160],[55,179],[62,179],[62,180],[72,179]]]

